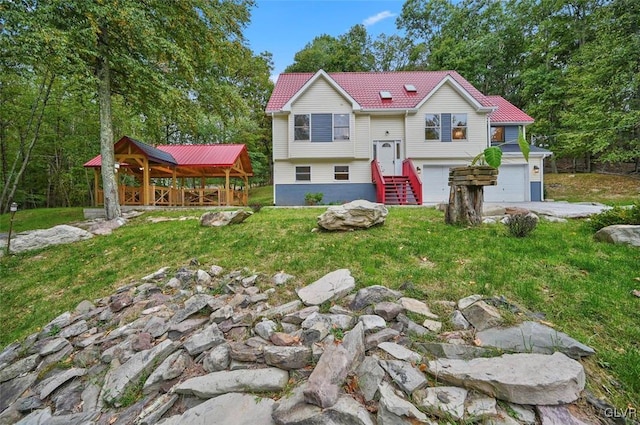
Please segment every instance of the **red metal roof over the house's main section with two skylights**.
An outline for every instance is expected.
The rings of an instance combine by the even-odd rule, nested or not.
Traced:
[[[266,112],[278,112],[314,76],[313,73],[280,74]],[[333,72],[328,73],[349,96],[363,109],[415,108],[450,76],[480,105],[491,107],[493,103],[471,83],[455,71],[407,71],[407,72]],[[416,88],[408,92],[405,84]],[[391,100],[382,100],[380,91],[391,93]]]

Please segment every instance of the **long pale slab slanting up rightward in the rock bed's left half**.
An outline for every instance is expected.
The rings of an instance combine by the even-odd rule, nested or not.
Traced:
[[[100,398],[107,403],[117,404],[129,385],[137,383],[144,373],[150,372],[155,364],[164,361],[176,348],[173,342],[164,340],[150,350],[134,354],[122,366],[109,370]]]

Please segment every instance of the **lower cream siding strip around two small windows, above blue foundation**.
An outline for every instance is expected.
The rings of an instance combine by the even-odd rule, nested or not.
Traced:
[[[348,165],[349,180],[336,181],[334,179],[334,166]],[[310,166],[311,181],[296,181],[296,167]],[[318,183],[371,183],[371,165],[369,161],[276,161],[273,164],[274,181],[277,184],[318,184]]]

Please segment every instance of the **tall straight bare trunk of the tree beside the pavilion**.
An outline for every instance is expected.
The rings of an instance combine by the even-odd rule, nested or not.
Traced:
[[[104,45],[106,32],[100,40]],[[100,154],[102,155],[102,190],[104,192],[104,211],[107,220],[122,215],[118,199],[118,180],[115,173],[115,154],[113,151],[113,123],[111,121],[111,72],[106,54],[98,58],[98,98],[100,101]]]

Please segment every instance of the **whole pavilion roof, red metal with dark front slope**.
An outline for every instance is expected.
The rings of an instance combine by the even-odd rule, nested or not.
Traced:
[[[229,168],[232,167],[238,159],[240,159],[244,171],[248,174],[253,173],[246,145],[161,145],[153,147],[128,136],[124,136],[114,145],[114,152],[117,154],[125,145],[138,150],[151,162],[176,167]],[[101,165],[101,155],[92,158],[84,164],[85,167],[94,168],[100,167]]]

